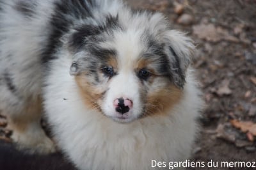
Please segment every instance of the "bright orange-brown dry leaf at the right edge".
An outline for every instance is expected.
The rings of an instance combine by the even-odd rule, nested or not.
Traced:
[[[230,123],[234,127],[240,128],[242,132],[250,132],[252,135],[256,135],[256,123],[252,121],[231,120]]]

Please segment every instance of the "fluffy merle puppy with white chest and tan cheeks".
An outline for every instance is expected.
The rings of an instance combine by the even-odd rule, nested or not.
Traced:
[[[79,169],[185,160],[203,104],[194,49],[161,13],[122,1],[0,0],[0,109],[20,148],[51,153],[44,112]]]

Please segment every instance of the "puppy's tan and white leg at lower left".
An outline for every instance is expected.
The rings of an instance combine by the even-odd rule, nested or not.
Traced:
[[[38,98],[26,103],[19,114],[7,114],[7,128],[13,130],[12,140],[20,150],[28,150],[30,153],[54,152],[54,143],[40,125],[42,101]]]

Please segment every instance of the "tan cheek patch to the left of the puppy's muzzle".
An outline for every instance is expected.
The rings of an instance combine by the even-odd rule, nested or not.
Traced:
[[[77,75],[75,79],[79,87],[79,93],[81,97],[83,97],[84,104],[91,109],[97,109],[97,111],[101,112],[99,102],[103,95],[102,91],[89,84],[83,74]]]

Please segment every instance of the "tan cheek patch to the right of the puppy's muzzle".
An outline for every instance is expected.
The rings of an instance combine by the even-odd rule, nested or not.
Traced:
[[[145,116],[168,114],[168,111],[182,98],[182,89],[171,84],[166,88],[148,95],[145,105]]]

